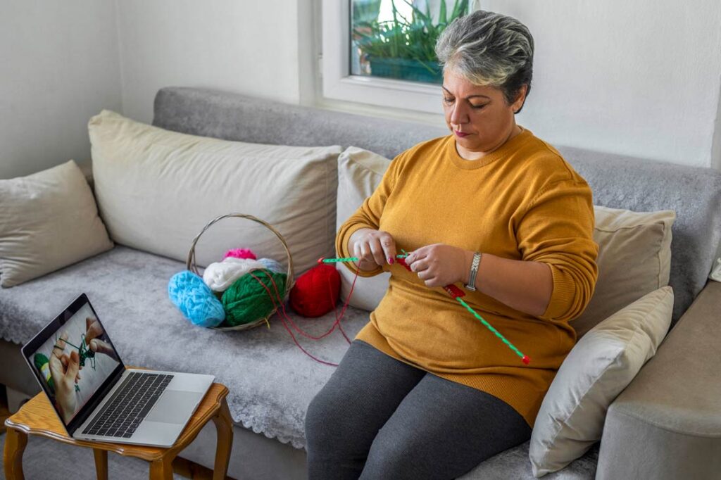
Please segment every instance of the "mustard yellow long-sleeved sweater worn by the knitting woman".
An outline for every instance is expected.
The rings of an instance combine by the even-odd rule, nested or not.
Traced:
[[[337,254],[352,257],[350,235],[375,228],[393,236],[398,252],[443,243],[547,263],[553,293],[539,317],[464,289],[466,303],[531,363],[523,364],[443,288],[428,288],[398,263],[361,272],[371,277],[389,271],[391,277],[386,295],[356,338],[397,360],[496,396],[533,427],[544,395],[575,345],[569,321],[583,312],[596,285],[593,222],[588,184],[530,130],[473,161],[459,156],[453,135],[420,143],[391,162],[373,195],[342,224]]]

